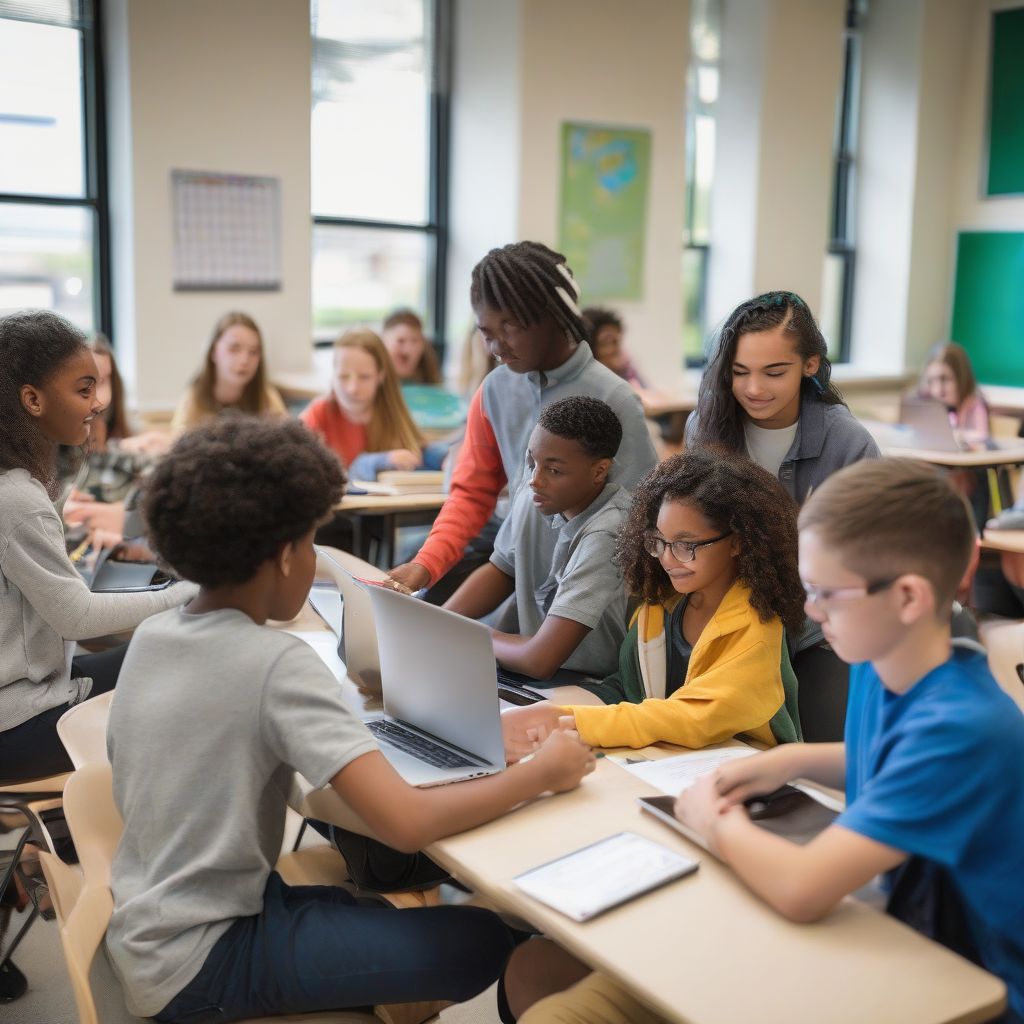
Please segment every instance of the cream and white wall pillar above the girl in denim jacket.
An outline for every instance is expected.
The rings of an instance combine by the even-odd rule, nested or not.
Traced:
[[[723,0],[708,322],[752,295],[820,306],[842,0]]]

